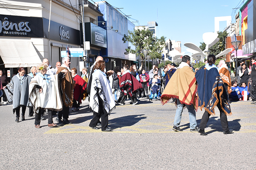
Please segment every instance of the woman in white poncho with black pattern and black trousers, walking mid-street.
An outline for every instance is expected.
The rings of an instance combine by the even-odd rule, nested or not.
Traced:
[[[93,118],[89,126],[93,129],[99,129],[96,125],[101,118],[101,130],[110,131],[112,129],[108,127],[108,115],[116,105],[104,68],[105,61],[99,60],[92,73],[90,109],[93,111]]]

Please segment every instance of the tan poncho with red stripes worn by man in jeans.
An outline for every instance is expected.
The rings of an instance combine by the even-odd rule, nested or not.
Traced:
[[[170,98],[178,98],[181,104],[193,104],[196,108],[196,78],[188,64],[177,69],[169,81],[171,83],[166,84],[161,95],[162,105],[166,104]]]

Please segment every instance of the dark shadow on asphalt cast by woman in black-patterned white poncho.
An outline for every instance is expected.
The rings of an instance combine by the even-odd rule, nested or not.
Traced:
[[[108,121],[109,126],[112,129],[122,128],[126,126],[132,126],[136,123],[138,123],[142,119],[146,119],[146,116],[143,115],[129,115],[129,116],[123,116],[120,118],[111,119]]]

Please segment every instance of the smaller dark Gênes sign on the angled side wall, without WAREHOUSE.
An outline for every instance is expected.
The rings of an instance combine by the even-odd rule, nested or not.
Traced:
[[[43,18],[44,38],[48,38],[49,20]],[[69,44],[81,45],[80,31],[67,27],[63,24],[51,21],[50,23],[50,40],[66,42]]]

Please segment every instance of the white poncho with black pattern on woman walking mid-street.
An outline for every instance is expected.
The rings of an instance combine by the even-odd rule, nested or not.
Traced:
[[[90,94],[90,109],[94,114],[99,113],[99,101],[103,103],[104,110],[110,112],[116,107],[112,90],[109,85],[107,76],[101,70],[95,70],[92,74],[91,94]]]

